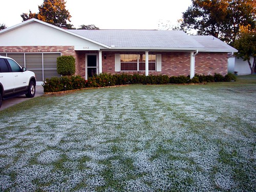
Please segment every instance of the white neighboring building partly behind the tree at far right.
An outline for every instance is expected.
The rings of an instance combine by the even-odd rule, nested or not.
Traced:
[[[251,57],[250,62],[252,65],[253,57]],[[251,70],[247,61],[243,61],[243,59],[232,56],[228,58],[228,72],[234,73],[234,71],[238,72],[238,75],[251,74]]]

